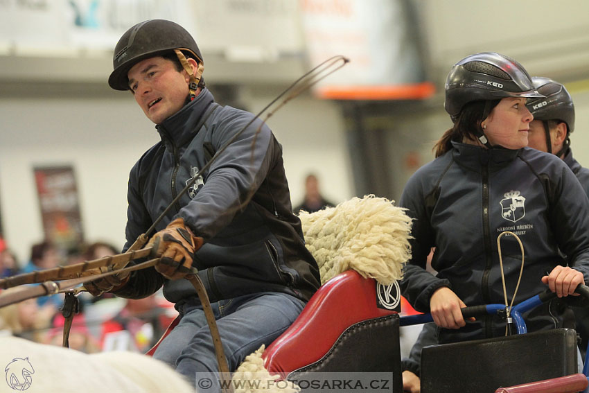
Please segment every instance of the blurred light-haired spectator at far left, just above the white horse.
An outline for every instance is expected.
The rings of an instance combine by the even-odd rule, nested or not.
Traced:
[[[14,289],[6,290],[6,292],[10,290]],[[55,309],[52,306],[39,307],[35,299],[10,304],[0,308],[0,332],[44,342],[44,336],[53,315],[55,315]]]

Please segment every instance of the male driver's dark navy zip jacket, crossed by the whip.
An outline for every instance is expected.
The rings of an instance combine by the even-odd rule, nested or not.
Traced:
[[[214,103],[210,91],[203,89],[157,125],[161,142],[130,173],[125,250],[253,118],[249,112]],[[211,302],[263,291],[308,300],[319,287],[319,270],[291,209],[282,147],[257,119],[213,160],[156,230],[182,217],[196,236],[204,238],[194,265]],[[164,279],[153,268],[134,272],[116,295],[144,297],[162,284],[170,302],[196,297],[189,281]]]

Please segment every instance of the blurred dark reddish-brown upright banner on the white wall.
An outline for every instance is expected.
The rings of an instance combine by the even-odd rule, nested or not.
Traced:
[[[84,236],[76,177],[71,166],[33,168],[45,238],[72,250]]]

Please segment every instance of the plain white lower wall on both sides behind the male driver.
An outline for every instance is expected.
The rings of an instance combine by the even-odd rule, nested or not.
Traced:
[[[123,92],[99,98],[40,95],[0,98],[0,209],[8,244],[23,261],[30,246],[43,239],[33,166],[69,164],[78,183],[86,240],[122,247],[128,173],[159,140],[154,125]],[[257,111],[271,98],[251,96],[246,104]],[[311,170],[332,200],[351,195],[338,116],[330,103],[304,96],[269,121],[283,144],[293,203],[302,198],[303,177]]]

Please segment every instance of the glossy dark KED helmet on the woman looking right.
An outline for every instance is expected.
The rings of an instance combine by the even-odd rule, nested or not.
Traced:
[[[476,53],[457,62],[446,78],[444,107],[452,120],[472,101],[504,97],[543,97],[525,68],[495,52]]]

